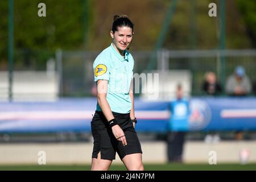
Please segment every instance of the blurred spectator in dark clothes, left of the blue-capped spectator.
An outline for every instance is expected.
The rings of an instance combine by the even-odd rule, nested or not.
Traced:
[[[217,77],[213,72],[207,72],[205,74],[205,80],[202,84],[202,90],[204,93],[216,96],[221,93],[222,88],[220,83],[217,81]]]

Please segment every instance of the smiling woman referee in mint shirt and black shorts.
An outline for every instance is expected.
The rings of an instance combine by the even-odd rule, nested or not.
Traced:
[[[110,31],[113,42],[93,63],[98,102],[91,122],[92,170],[108,170],[116,152],[127,170],[144,170],[141,143],[134,129],[134,60],[127,51],[133,34],[130,19],[115,15]]]

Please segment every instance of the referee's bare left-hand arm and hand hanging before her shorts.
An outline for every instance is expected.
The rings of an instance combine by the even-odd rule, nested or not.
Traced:
[[[98,105],[100,105],[101,110],[103,114],[105,115],[105,118],[110,121],[111,119],[114,119],[114,115],[112,114],[112,111],[110,109],[109,103],[106,100],[106,95],[108,93],[108,80],[98,80],[97,81],[97,100]],[[119,125],[115,125],[112,127],[112,132],[114,134],[114,137],[121,141],[123,146],[127,145],[125,134],[123,133],[123,130]]]

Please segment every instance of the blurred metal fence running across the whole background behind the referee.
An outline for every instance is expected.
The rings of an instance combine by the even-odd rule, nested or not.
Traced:
[[[93,61],[100,51],[16,51],[14,71],[48,71],[55,69],[58,76],[60,97],[92,96]],[[134,60],[134,73],[147,73],[152,51],[131,51]],[[215,72],[222,86],[226,78],[242,65],[251,83],[256,81],[256,50],[165,50],[158,51],[155,70],[188,70],[192,74],[192,96],[203,94],[201,85],[208,71]],[[222,59],[221,59],[222,58]],[[224,60],[224,61],[223,61]],[[55,62],[55,65],[52,65]],[[47,63],[47,64],[46,64]],[[2,68],[2,71],[6,69]],[[3,79],[2,79],[3,80]],[[0,91],[7,92],[8,80],[1,81]],[[14,80],[15,82],[15,80]],[[15,85],[14,85],[15,86]],[[7,93],[3,93],[7,96]],[[222,94],[225,94],[222,92]],[[253,93],[251,93],[253,94]],[[255,90],[254,90],[255,94]],[[138,96],[139,94],[136,94]]]

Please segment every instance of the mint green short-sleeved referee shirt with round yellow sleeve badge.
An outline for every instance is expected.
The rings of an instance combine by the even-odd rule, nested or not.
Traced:
[[[93,63],[94,81],[108,80],[106,99],[115,113],[130,113],[130,84],[133,78],[134,59],[129,51],[121,56],[113,43],[96,57]],[[99,90],[98,90],[99,92]],[[97,111],[101,111],[97,103]]]

